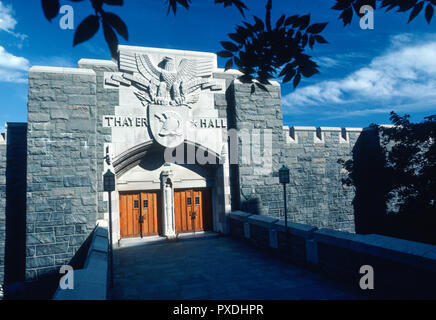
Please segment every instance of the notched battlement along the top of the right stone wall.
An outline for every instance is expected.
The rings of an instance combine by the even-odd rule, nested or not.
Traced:
[[[291,127],[283,126],[283,134],[288,144],[299,143],[350,143],[356,140],[364,128],[339,127]]]

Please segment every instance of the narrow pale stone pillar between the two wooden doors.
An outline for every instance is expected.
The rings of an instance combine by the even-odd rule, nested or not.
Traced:
[[[174,222],[174,187],[172,175],[172,171],[169,168],[165,168],[160,175],[162,190],[163,235],[168,238],[176,236],[176,227]]]

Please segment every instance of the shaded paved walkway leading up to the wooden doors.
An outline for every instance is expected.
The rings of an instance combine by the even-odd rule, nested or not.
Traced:
[[[324,276],[229,237],[114,250],[111,299],[356,299]]]

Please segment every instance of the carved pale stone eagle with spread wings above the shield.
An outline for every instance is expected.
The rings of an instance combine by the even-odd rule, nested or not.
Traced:
[[[144,106],[191,108],[198,102],[202,90],[221,90],[221,86],[212,81],[214,67],[211,59],[183,58],[176,66],[176,60],[169,56],[155,64],[148,54],[120,52],[120,71],[126,72],[106,79],[106,84],[134,86],[134,93]]]

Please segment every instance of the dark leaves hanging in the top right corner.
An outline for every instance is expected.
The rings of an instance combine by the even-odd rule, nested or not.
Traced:
[[[425,19],[430,24],[436,0],[336,0],[336,4],[332,7],[334,10],[342,11],[339,19],[344,22],[344,25],[351,24],[353,15],[362,17],[360,8],[369,5],[374,10],[376,9],[376,2],[380,4],[381,8],[386,8],[386,11],[397,9],[397,12],[410,11],[408,22],[415,19],[421,11],[425,8]]]

